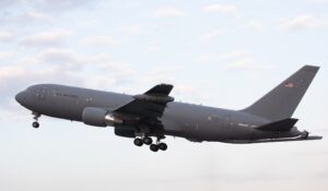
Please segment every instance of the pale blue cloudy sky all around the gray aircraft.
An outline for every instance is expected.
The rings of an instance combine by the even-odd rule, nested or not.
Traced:
[[[232,145],[166,139],[163,153],[48,117],[14,95],[35,83],[142,93],[239,109],[303,64],[321,69],[294,117],[328,135],[328,1],[0,0],[0,190],[317,190],[326,139]]]

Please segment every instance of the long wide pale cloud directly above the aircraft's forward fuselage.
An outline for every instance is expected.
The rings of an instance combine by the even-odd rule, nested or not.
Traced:
[[[110,77],[110,82],[113,81],[115,84],[127,82],[136,74],[131,67],[117,61],[107,52],[85,55],[70,49],[51,48],[37,53],[30,62],[34,62],[39,67],[47,64],[75,72],[86,70],[90,73],[96,73],[97,76]],[[110,75],[108,75],[109,73]]]

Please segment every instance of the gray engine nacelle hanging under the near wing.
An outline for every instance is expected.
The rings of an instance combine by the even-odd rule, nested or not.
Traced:
[[[82,121],[89,126],[107,127],[121,124],[124,121],[114,117],[106,109],[98,107],[87,107],[83,110]]]

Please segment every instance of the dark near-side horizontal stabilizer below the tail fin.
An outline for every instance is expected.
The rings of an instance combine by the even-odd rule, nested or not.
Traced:
[[[290,131],[297,121],[298,119],[288,118],[280,121],[270,122],[257,129],[262,131]]]

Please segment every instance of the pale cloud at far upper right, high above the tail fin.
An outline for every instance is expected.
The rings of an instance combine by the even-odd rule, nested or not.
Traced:
[[[326,26],[327,23],[311,14],[303,14],[281,22],[280,28],[286,31],[311,29]]]

